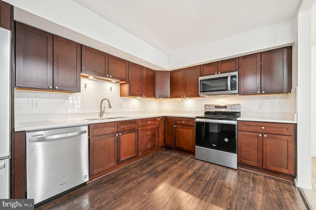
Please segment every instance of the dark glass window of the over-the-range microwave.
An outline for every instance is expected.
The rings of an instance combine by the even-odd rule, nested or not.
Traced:
[[[200,80],[200,92],[214,92],[214,91],[225,91],[228,90],[227,81],[228,77],[220,77],[213,79]]]

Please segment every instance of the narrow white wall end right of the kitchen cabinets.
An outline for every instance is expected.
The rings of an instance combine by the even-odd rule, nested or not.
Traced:
[[[297,186],[311,189],[311,9],[300,11],[297,20],[298,123],[295,181]]]

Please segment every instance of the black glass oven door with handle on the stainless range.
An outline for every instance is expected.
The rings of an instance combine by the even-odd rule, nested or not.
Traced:
[[[237,153],[237,121],[196,118],[196,145]]]

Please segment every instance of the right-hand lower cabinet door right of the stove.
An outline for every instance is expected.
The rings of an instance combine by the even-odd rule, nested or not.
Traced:
[[[263,168],[294,175],[293,137],[264,134]]]

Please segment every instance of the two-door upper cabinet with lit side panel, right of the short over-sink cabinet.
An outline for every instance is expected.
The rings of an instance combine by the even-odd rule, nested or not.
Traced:
[[[120,84],[120,96],[155,98],[155,70],[129,62],[128,83]]]

